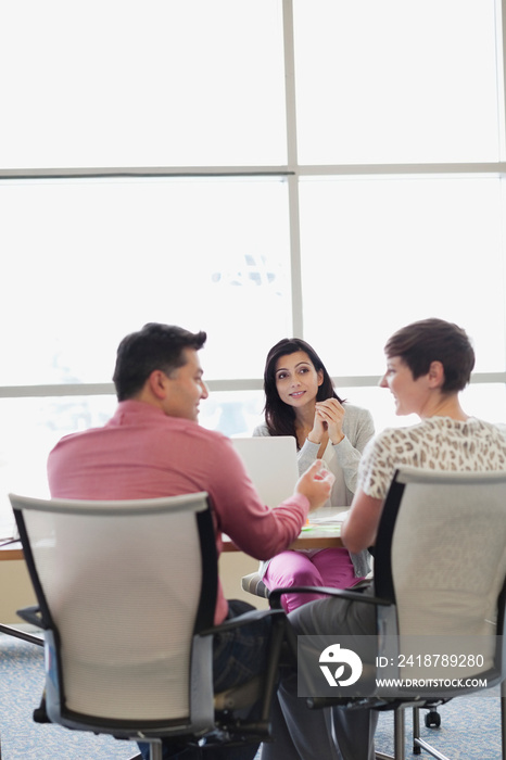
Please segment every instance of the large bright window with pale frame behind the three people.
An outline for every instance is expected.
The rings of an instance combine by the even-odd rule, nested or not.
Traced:
[[[501,0],[0,2],[0,537],[118,341],[204,329],[201,423],[249,434],[268,349],[314,344],[377,429],[397,327],[465,327],[506,422]]]

